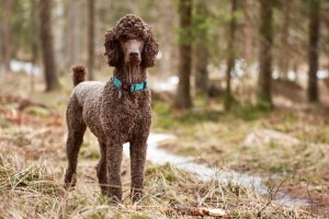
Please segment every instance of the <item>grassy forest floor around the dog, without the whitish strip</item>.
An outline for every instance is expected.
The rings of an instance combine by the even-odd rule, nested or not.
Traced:
[[[230,218],[325,218],[328,212],[329,126],[325,115],[308,112],[313,108],[296,113],[239,106],[224,113],[217,107],[220,102],[205,104],[198,96],[195,110],[182,114],[155,99],[152,131],[178,137],[163,142],[162,148],[195,155],[196,162],[209,166],[273,175],[269,184],[290,195],[311,199],[313,205],[304,208],[275,205],[271,197],[260,196],[250,188],[216,180],[202,182],[170,163],[148,162],[146,195],[138,205],[156,206],[158,210],[135,211],[111,206],[100,194],[94,169],[99,149],[89,132],[80,152],[77,188],[64,189],[67,132],[64,115],[71,89],[63,85],[59,91],[44,93],[42,79],[36,79],[36,91],[31,94],[29,80],[26,76],[14,74],[0,82],[0,218],[180,218],[161,210],[174,205],[223,208]],[[61,84],[69,84],[68,80],[63,77]],[[212,107],[205,107],[208,104]],[[280,137],[287,142],[258,137],[263,134],[273,134],[270,137],[274,140],[275,135],[284,134]],[[129,160],[125,158],[124,204],[131,204],[128,166]]]

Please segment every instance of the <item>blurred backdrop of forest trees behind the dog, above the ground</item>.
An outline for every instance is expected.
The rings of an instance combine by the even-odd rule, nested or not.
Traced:
[[[41,16],[44,2],[49,2],[48,24],[44,24]],[[186,10],[179,10],[184,4],[191,4],[188,9],[191,15],[184,14]],[[265,12],[262,18],[261,12],[266,8],[270,13]],[[173,104],[177,108],[191,107],[197,93],[219,99],[228,96],[226,104],[248,100],[252,104],[272,105],[273,88],[269,81],[273,79],[299,84],[309,102],[319,102],[324,93],[318,92],[318,81],[322,83],[329,77],[328,10],[328,0],[1,0],[0,76],[30,71],[27,73],[37,76],[56,74],[48,78],[57,80],[57,76],[66,76],[72,65],[86,64],[92,71],[91,78],[100,79],[109,74],[103,56],[105,31],[124,14],[135,13],[154,27],[160,44],[157,66],[150,69],[151,78],[161,81],[177,76],[172,87],[161,84],[172,93],[182,92],[180,87],[186,85],[179,84],[175,90],[178,79],[191,81],[191,85],[183,89],[189,92],[175,97],[179,102],[191,99],[188,101],[191,103]],[[315,13],[313,18],[311,13]],[[184,15],[190,24],[182,26],[179,21]],[[269,21],[264,19],[270,16]],[[318,25],[311,26],[311,20],[318,20],[315,21]],[[52,42],[46,48],[42,46],[39,33],[43,25],[50,26]],[[270,44],[263,41],[266,33]],[[191,51],[179,51],[180,46],[191,47]],[[48,47],[54,47],[50,54],[55,57],[46,61],[43,53]],[[262,48],[269,50],[269,55],[262,54]],[[191,59],[188,64],[191,68],[184,70],[179,66],[186,58]],[[262,62],[269,66],[266,70],[261,68]],[[26,65],[32,68],[26,69]],[[47,72],[47,65],[53,66],[54,72]],[[189,80],[182,80],[183,77]],[[45,81],[46,90],[52,90],[47,85],[52,80]],[[249,83],[253,89],[250,94],[256,97],[243,99],[239,92],[246,93]],[[264,100],[260,100],[261,96]]]

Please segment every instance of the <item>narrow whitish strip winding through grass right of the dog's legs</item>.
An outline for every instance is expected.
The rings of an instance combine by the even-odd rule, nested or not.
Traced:
[[[180,168],[184,171],[193,173],[202,181],[208,181],[211,178],[218,178],[223,184],[236,184],[245,187],[254,189],[260,195],[269,194],[269,188],[264,184],[264,177],[257,175],[248,175],[239,173],[236,171],[223,171],[208,168],[204,164],[197,164],[194,162],[193,157],[181,157],[169,153],[167,150],[160,149],[158,143],[163,140],[175,138],[173,135],[167,134],[150,134],[148,137],[148,149],[147,149],[147,160],[157,163],[164,164],[167,162],[172,165]],[[128,143],[126,143],[128,145]],[[129,155],[128,146],[124,147],[124,153]],[[277,194],[280,198],[273,200],[275,204],[297,207],[297,206],[308,206],[309,203],[306,199],[292,198],[285,194]]]

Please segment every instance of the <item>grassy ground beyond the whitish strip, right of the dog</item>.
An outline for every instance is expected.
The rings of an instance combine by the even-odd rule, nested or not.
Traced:
[[[164,103],[156,103],[155,108],[159,106],[166,108]],[[206,115],[208,111],[207,106],[200,106],[198,111],[179,117],[170,114],[168,108],[160,111],[158,114],[167,119],[160,118],[156,128],[178,130],[178,138],[162,142],[161,148],[181,155],[194,155],[196,162],[209,166],[273,176],[271,181],[276,184],[284,181],[281,192],[313,201],[315,212],[322,216],[329,212],[327,117],[286,108],[273,112],[236,108],[228,114],[209,112]],[[166,124],[161,124],[162,120]],[[167,128],[169,123],[172,126]],[[266,135],[259,136],[259,142],[245,143],[250,134],[262,130],[280,132],[297,143],[271,140]]]

